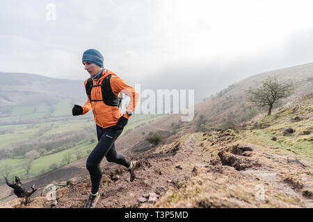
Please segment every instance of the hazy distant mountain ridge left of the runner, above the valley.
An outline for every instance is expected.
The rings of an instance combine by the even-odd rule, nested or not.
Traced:
[[[63,99],[81,101],[86,98],[83,96],[83,80],[0,72],[0,106],[56,103]]]

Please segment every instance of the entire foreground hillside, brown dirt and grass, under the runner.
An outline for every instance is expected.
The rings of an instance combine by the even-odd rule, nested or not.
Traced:
[[[312,104],[307,94],[234,130],[188,133],[140,153],[131,184],[123,167],[106,165],[97,207],[313,207]],[[68,180],[57,205],[38,196],[26,207],[79,208],[90,189],[88,177]]]

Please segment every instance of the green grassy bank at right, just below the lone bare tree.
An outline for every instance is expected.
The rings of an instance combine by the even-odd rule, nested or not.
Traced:
[[[307,94],[298,101],[279,108],[270,116],[253,119],[242,123],[234,130],[225,131],[225,138],[220,139],[217,131],[204,133],[199,141],[207,138],[227,144],[242,140],[251,144],[264,146],[273,150],[284,150],[303,158],[313,160],[313,94]]]

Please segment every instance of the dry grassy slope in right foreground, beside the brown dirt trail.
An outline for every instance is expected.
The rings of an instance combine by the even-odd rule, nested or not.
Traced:
[[[307,94],[236,130],[198,136],[207,166],[191,164],[191,179],[169,189],[154,207],[312,207],[312,104],[313,94]]]

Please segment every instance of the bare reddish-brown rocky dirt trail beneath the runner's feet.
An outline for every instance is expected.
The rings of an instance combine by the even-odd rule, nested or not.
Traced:
[[[168,187],[179,187],[188,181],[195,162],[206,164],[199,160],[195,137],[191,135],[184,144],[164,145],[136,157],[140,164],[134,182],[129,181],[129,172],[122,167],[103,169],[97,207],[152,207]],[[89,178],[61,189],[57,191],[61,195],[56,207],[82,207],[90,191]]]

